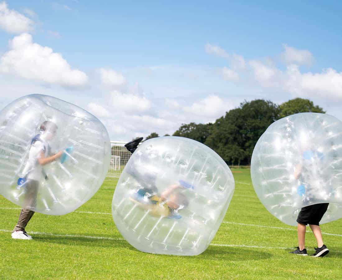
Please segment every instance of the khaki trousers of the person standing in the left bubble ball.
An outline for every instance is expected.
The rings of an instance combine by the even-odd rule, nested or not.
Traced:
[[[32,218],[33,214],[35,214],[35,212],[30,209],[34,209],[36,207],[38,186],[39,182],[36,180],[28,180],[26,183],[26,186],[24,187],[26,188],[24,208],[20,211],[18,223],[14,227],[13,231],[22,230],[26,232],[25,227]]]

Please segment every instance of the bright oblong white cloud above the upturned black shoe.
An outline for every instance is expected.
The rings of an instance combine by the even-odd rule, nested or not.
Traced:
[[[146,97],[136,94],[124,94],[114,90],[111,92],[113,107],[119,111],[144,112],[151,107],[151,102]]]

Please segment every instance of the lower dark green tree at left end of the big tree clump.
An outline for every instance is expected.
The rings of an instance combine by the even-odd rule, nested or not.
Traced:
[[[172,136],[181,136],[204,143],[211,133],[212,123],[208,124],[182,124]]]

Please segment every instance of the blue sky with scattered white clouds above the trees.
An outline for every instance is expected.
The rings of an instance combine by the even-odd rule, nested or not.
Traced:
[[[342,119],[342,3],[227,2],[0,0],[1,105],[32,92],[62,98],[113,140],[212,122],[244,99],[310,98]],[[11,55],[15,37],[33,61]],[[43,47],[78,71],[72,81],[57,61],[35,71]]]

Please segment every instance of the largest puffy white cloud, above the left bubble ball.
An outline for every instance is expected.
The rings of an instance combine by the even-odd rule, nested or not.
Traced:
[[[85,73],[71,69],[62,54],[32,43],[30,34],[14,37],[9,47],[0,59],[0,72],[70,88],[81,88],[88,83]]]

